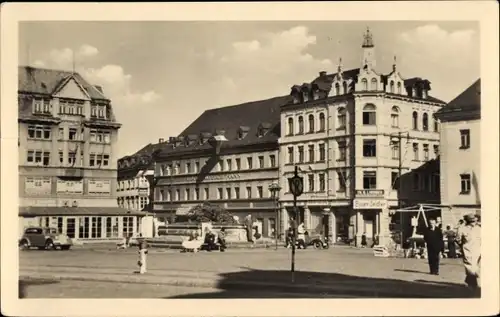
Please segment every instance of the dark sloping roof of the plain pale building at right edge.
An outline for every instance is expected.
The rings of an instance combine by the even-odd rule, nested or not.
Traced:
[[[481,117],[481,79],[476,80],[448,105],[436,112],[442,121],[453,119],[474,119]]]

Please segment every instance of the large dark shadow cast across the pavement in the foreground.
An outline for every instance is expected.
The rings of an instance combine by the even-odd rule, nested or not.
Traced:
[[[247,268],[248,269],[248,268]],[[464,285],[358,277],[338,273],[248,270],[221,273],[219,293],[197,293],[168,298],[471,298]],[[265,284],[263,284],[265,283]],[[317,287],[316,287],[317,286]],[[299,296],[297,296],[299,295]]]

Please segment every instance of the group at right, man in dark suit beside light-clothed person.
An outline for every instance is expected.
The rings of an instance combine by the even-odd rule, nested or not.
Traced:
[[[461,249],[466,275],[465,283],[474,289],[479,287],[481,266],[481,225],[478,220],[477,215],[465,215],[456,232],[451,232],[450,226],[447,226],[444,234],[447,238],[450,257],[456,257],[455,243]],[[430,219],[429,228],[424,233],[424,241],[427,246],[430,274],[433,275],[439,275],[440,257],[444,251],[444,235],[441,228],[437,226],[436,220]]]

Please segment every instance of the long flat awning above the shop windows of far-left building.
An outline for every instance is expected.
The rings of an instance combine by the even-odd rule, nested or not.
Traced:
[[[19,216],[144,216],[143,211],[120,207],[19,207]]]

